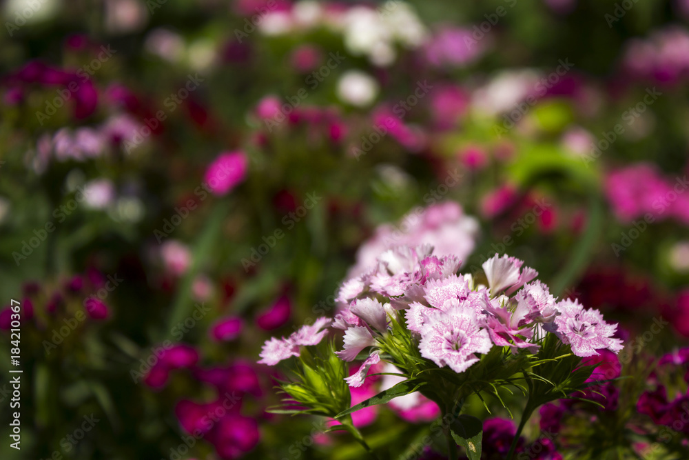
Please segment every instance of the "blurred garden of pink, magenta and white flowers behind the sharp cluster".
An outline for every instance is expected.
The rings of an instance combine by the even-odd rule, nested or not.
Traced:
[[[420,243],[508,252],[621,324],[592,363],[634,378],[542,408],[523,458],[689,457],[689,2],[0,4],[1,458],[360,458],[267,412],[258,352]],[[433,458],[408,448],[437,415],[354,422]],[[482,415],[502,458],[514,423]]]

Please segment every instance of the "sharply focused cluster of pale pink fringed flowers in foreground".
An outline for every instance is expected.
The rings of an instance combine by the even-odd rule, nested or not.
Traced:
[[[369,368],[380,362],[379,339],[389,330],[389,318],[400,319],[400,312],[418,339],[421,356],[455,372],[473,366],[493,346],[535,352],[548,332],[579,357],[621,350],[621,340],[613,337],[617,324],[606,323],[598,310],[586,310],[577,301],[557,301],[547,286],[533,281],[536,270],[522,261],[495,254],[483,264],[488,283],[483,286],[471,274],[457,276],[457,257],[436,257],[432,251],[429,245],[388,250],[375,268],[342,285],[338,301],[346,307],[332,327],[345,331],[345,345],[337,354],[355,361],[369,350],[358,372],[346,379],[349,386],[361,386]],[[273,365],[298,356],[299,346],[325,337],[322,328],[328,323],[321,318],[288,339],[267,341],[261,362]]]

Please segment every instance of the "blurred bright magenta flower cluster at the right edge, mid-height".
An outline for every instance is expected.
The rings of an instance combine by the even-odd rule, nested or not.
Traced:
[[[636,163],[608,174],[605,192],[615,215],[624,222],[674,217],[689,224],[686,175],[669,180],[650,163]]]

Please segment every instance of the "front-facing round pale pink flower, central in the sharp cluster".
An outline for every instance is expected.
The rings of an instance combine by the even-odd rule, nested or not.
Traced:
[[[473,310],[453,308],[429,318],[421,330],[419,350],[422,357],[441,368],[464,372],[479,361],[475,353],[487,353],[492,346],[488,331],[480,327]]]

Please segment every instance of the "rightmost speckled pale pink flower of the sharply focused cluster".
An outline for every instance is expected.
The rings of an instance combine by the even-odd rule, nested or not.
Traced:
[[[570,344],[577,356],[590,357],[598,354],[596,350],[604,348],[612,352],[624,348],[620,339],[612,338],[617,324],[603,321],[598,310],[584,310],[577,301],[570,299],[560,301],[556,307],[559,316],[544,328],[557,334],[562,343]]]

